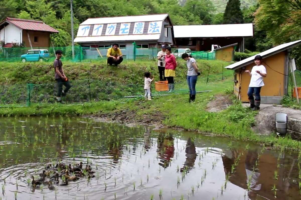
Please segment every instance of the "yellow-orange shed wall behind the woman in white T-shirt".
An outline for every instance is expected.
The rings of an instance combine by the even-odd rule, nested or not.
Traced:
[[[285,74],[286,72],[284,71],[285,69],[285,61],[286,61],[286,52],[280,52],[278,54],[272,55],[268,58],[263,59],[263,65],[266,68],[267,71],[267,76],[263,78],[263,82],[265,86],[261,88],[260,95],[261,96],[283,96],[284,95],[284,90],[285,90],[285,85],[284,85],[284,75],[280,74],[283,73]],[[248,101],[248,95],[247,91],[249,88],[249,83],[251,76],[249,76],[247,73],[245,73],[245,70],[252,70],[252,67],[255,64],[249,64],[246,66],[246,68],[243,70],[242,68],[235,70],[235,73],[237,73],[237,85],[234,85],[234,93],[238,96],[238,88],[240,85],[240,72],[243,71],[241,74],[241,89],[240,89],[240,100],[242,102],[247,102]],[[269,66],[269,67],[268,67]],[[271,69],[271,68],[273,69]],[[275,71],[278,72],[275,72]],[[237,91],[236,91],[237,90]]]

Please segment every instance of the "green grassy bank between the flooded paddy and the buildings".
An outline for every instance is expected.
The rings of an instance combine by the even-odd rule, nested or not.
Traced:
[[[10,69],[6,69],[8,68],[7,65],[0,64],[1,70],[5,72],[4,76],[0,77],[0,81],[2,84],[7,82],[8,85],[24,82],[53,82],[53,69],[51,66],[49,64],[47,66],[45,65],[45,67],[49,68],[49,72],[45,73],[45,71],[43,71],[45,67],[39,67],[38,65],[38,63],[30,63],[20,66],[19,63],[14,63],[9,67]],[[261,137],[253,133],[250,127],[255,122],[254,116],[257,112],[251,112],[249,109],[242,107],[239,102],[234,101],[232,106],[222,112],[206,112],[206,104],[212,100],[216,94],[231,93],[233,72],[231,70],[224,71],[225,80],[222,81],[222,65],[225,66],[226,63],[221,61],[198,61],[198,66],[202,70],[202,77],[200,77],[197,82],[197,91],[213,91],[197,94],[195,103],[188,103],[187,94],[154,97],[153,101],[144,101],[141,100],[141,98],[116,98],[116,100],[99,100],[92,104],[84,103],[82,105],[34,103],[30,107],[1,108],[0,115],[97,115],[99,113],[130,110],[136,112],[136,119],[144,118],[145,115],[151,115],[153,118],[163,115],[165,117],[163,124],[170,127],[182,127],[185,129],[211,132],[219,136],[229,136],[234,139],[273,145],[275,148],[301,150],[301,142],[293,141],[290,138],[276,138],[275,136]],[[210,71],[214,74],[210,75],[209,83],[206,84],[206,74],[209,66],[211,66]],[[14,70],[12,67],[17,67],[17,69]],[[22,73],[22,77],[16,77],[15,74],[17,70],[22,70],[24,67],[27,70]],[[92,79],[101,81],[110,81],[117,86],[132,83],[142,87],[144,70],[154,72],[155,77],[158,77],[155,61],[128,61],[120,66],[120,68],[110,68],[105,66],[102,62],[88,64],[68,63],[65,65],[66,74],[71,80],[91,77]],[[177,92],[187,91],[185,71],[186,67],[184,66],[184,62],[179,61],[176,78],[178,81],[176,85]],[[139,90],[136,94],[142,94],[142,91],[143,90]],[[70,94],[72,94],[72,92],[76,91],[70,91]]]

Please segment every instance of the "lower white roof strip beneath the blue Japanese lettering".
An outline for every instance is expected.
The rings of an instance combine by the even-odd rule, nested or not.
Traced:
[[[141,35],[106,35],[76,37],[74,42],[104,42],[104,41],[134,41],[134,40],[159,40],[160,34]]]

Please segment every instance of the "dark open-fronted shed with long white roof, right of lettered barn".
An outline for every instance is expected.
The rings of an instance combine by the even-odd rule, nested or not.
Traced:
[[[227,46],[238,43],[238,51],[244,52],[244,38],[253,37],[253,24],[180,25],[173,26],[176,48],[193,51],[209,51],[211,45]]]

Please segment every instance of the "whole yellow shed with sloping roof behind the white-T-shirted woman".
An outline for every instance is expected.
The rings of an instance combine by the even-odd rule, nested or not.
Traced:
[[[263,58],[267,76],[263,79],[265,86],[261,89],[261,103],[280,104],[284,95],[287,95],[289,75],[290,49],[301,44],[301,40],[284,43],[259,53]],[[252,70],[256,55],[238,61],[225,68],[234,70],[234,94],[242,102],[248,102],[248,87],[251,77],[245,70]]]

